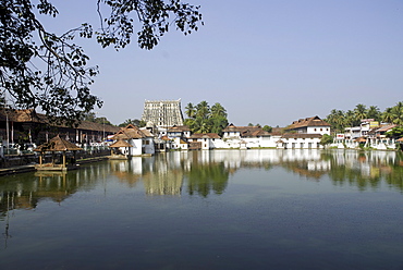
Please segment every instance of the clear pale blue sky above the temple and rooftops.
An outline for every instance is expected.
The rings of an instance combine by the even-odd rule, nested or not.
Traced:
[[[99,25],[96,0],[52,0],[64,32]],[[358,103],[381,111],[403,101],[402,0],[187,0],[204,26],[171,28],[152,50],[136,37],[120,51],[76,39],[99,65],[96,109],[113,124],[141,119],[145,100],[221,103],[234,125],[285,126]]]

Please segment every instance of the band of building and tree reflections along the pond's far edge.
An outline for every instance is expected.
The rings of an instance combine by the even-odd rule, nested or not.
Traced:
[[[382,183],[403,191],[402,155],[354,150],[216,150],[161,154],[150,158],[89,164],[68,173],[25,173],[0,181],[0,219],[12,209],[34,209],[40,200],[62,202],[77,191],[93,189],[115,177],[130,188],[138,183],[146,195],[207,197],[222,194],[240,169],[283,168],[307,180],[334,185],[378,188]]]

